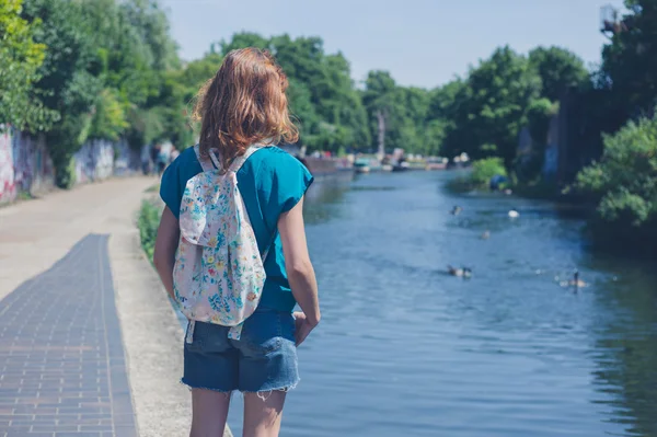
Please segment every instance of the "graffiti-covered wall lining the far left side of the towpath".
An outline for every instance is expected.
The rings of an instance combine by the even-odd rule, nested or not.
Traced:
[[[134,174],[140,169],[140,154],[125,141],[89,141],[73,156],[76,183]],[[15,200],[20,193],[38,195],[54,184],[53,161],[44,138],[0,126],[0,204]]]

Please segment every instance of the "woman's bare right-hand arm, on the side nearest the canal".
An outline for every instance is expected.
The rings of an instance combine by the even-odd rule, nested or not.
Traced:
[[[314,269],[310,262],[306,228],[303,226],[303,198],[289,211],[280,215],[278,232],[283,242],[285,267],[292,295],[301,307],[297,318],[297,345],[320,323],[320,300]]]

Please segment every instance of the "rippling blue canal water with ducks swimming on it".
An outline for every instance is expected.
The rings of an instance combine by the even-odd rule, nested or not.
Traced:
[[[553,204],[457,196],[449,177],[311,187],[323,320],[281,436],[657,436],[654,264],[592,254]],[[579,292],[560,285],[574,269]],[[241,435],[240,396],[229,424]]]

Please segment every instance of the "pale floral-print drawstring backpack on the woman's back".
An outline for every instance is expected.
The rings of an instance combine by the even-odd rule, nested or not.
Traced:
[[[240,340],[242,323],[257,308],[265,284],[264,260],[238,187],[237,172],[262,146],[251,146],[223,171],[214,150],[210,160],[194,150],[203,172],[187,181],[180,211],[181,238],[173,268],[180,310],[194,322],[231,326]]]

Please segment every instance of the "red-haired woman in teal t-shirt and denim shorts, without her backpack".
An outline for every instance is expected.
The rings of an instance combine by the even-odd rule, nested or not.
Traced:
[[[296,158],[274,147],[293,142],[287,79],[274,58],[255,48],[233,50],[200,90],[195,115],[201,119],[199,153],[217,151],[228,168],[251,145],[266,145],[239,170],[238,185],[267,275],[257,310],[239,341],[229,327],[196,322],[184,348],[183,382],[192,389],[191,437],[219,437],[230,393],[244,393],[244,436],[278,436],[286,393],[299,381],[297,346],[320,322],[318,286],[306,243],[303,195],[312,176]],[[178,243],[178,210],[186,182],[201,172],[188,148],[166,169],[154,264],[173,295],[172,272]],[[302,312],[292,310],[299,304]]]

